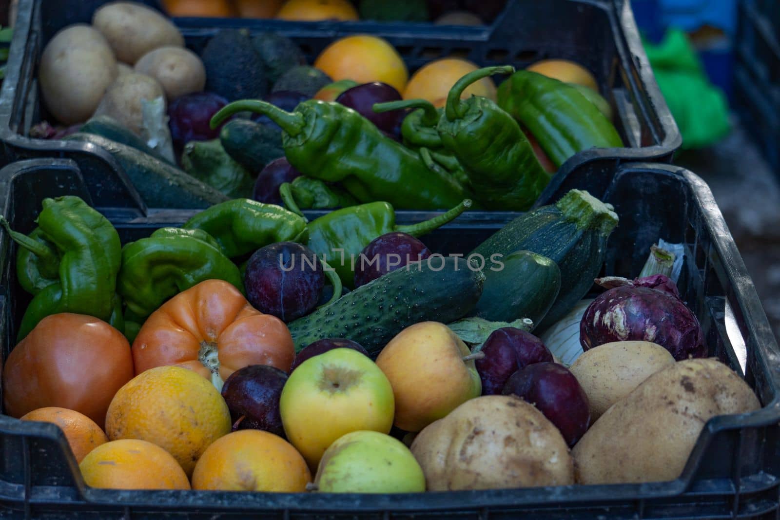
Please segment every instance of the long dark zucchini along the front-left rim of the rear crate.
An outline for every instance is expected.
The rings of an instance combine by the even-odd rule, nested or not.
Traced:
[[[149,207],[200,209],[228,200],[192,175],[126,144],[80,132],[65,139],[92,143],[112,154]]]

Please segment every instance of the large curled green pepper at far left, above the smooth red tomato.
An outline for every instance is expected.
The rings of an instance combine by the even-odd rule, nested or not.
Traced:
[[[13,232],[0,219],[11,238],[27,249],[25,253],[20,249],[18,258],[27,277],[23,286],[34,294],[18,339],[51,314],[78,313],[111,320],[122,250],[111,222],[79,197],[61,196],[44,199],[37,223],[37,230],[27,236]],[[55,268],[56,279],[51,278]]]

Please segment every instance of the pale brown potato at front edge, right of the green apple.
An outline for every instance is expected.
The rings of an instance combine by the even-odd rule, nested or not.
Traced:
[[[561,433],[514,395],[466,401],[418,433],[411,450],[429,491],[574,483]]]

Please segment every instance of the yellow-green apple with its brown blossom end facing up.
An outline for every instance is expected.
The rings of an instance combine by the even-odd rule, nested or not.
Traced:
[[[351,348],[334,348],[301,363],[279,400],[287,439],[311,469],[317,469],[328,446],[346,433],[388,433],[394,408],[388,378]]]

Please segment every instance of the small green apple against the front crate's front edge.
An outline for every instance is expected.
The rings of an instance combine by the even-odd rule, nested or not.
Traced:
[[[421,493],[425,475],[403,443],[371,430],[339,437],[325,451],[308,490],[322,493]]]

